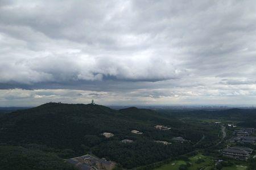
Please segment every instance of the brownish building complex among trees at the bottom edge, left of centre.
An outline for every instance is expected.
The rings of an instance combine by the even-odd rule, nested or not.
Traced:
[[[92,155],[83,155],[76,158],[67,159],[68,163],[75,165],[80,170],[112,170],[116,163],[108,161],[104,158],[99,159]]]

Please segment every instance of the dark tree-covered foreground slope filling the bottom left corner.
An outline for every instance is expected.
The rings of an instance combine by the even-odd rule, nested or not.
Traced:
[[[3,145],[0,145],[0,169],[75,170],[53,152]]]

